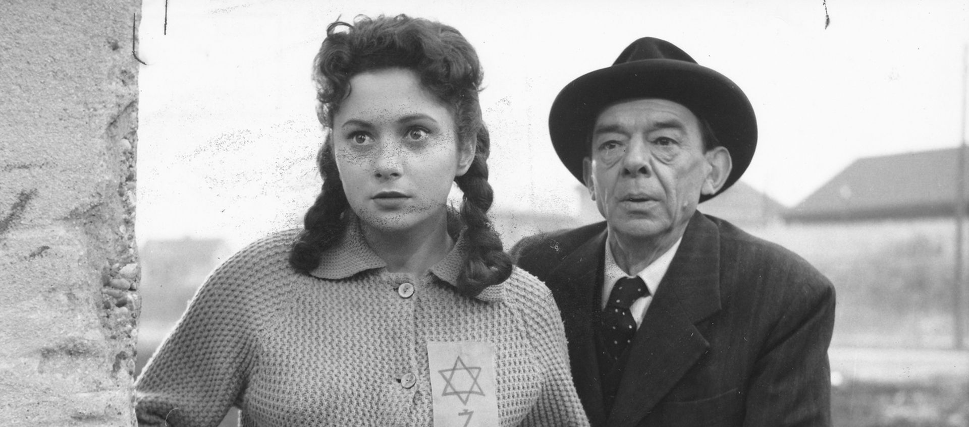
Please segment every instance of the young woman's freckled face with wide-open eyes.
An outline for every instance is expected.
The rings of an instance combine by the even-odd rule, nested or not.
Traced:
[[[409,70],[360,73],[350,88],[331,134],[350,207],[373,229],[439,225],[474,155],[459,144],[451,109]]]

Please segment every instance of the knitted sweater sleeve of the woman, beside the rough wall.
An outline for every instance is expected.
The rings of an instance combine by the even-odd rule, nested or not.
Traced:
[[[237,404],[259,354],[261,313],[275,297],[263,286],[279,268],[266,268],[266,243],[216,268],[145,366],[136,383],[140,426],[216,426]]]

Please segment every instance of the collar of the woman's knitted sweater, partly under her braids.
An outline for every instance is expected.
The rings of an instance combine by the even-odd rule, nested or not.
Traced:
[[[366,270],[387,267],[387,262],[378,257],[367,245],[363,238],[363,231],[360,229],[359,218],[350,213],[347,220],[343,238],[324,251],[320,258],[320,265],[310,271],[310,275],[326,280],[341,280]],[[444,259],[430,267],[429,273],[456,288],[457,278],[461,274],[461,268],[464,266],[464,259],[469,250],[469,243],[464,229],[456,227],[459,222],[449,221],[448,224],[448,232],[452,236],[457,233],[457,239]],[[476,298],[486,302],[497,302],[504,299],[503,294],[504,284],[498,284],[485,288]]]

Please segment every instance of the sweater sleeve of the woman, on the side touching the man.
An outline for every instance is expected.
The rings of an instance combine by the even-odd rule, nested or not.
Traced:
[[[544,369],[542,393],[520,425],[588,426],[588,419],[572,381],[565,327],[555,300],[542,282],[528,273],[523,276],[525,277],[522,282],[525,286],[516,288],[525,290],[530,295],[523,298],[525,307],[522,318],[537,353],[538,365]]]

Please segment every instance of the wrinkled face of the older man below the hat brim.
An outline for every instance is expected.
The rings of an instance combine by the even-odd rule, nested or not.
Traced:
[[[719,189],[716,162],[709,157],[726,155],[730,168],[725,148],[704,153],[697,116],[666,100],[605,108],[591,148],[583,163],[585,185],[610,232],[660,245],[682,235],[701,194]]]

